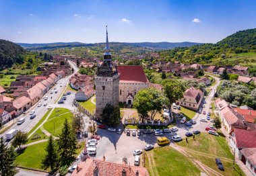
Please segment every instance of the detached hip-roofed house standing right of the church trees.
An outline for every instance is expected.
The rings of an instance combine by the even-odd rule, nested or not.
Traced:
[[[200,89],[190,87],[183,94],[183,98],[177,100],[177,103],[183,107],[197,111],[203,100],[203,92]]]

